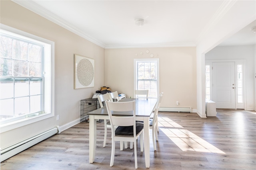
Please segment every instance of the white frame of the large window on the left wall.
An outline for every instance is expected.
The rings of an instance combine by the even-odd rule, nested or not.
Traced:
[[[19,117],[19,119],[14,121],[4,121],[4,123],[1,122],[0,133],[3,133],[54,116],[54,42],[4,24],[0,24],[0,27],[0,33],[3,31],[8,31],[17,34],[17,36],[21,37],[22,39],[32,39],[33,41],[45,43],[44,63],[47,63],[44,64],[44,114],[27,118],[24,115],[24,117]]]

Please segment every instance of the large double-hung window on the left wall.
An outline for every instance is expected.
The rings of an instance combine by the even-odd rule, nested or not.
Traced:
[[[54,43],[6,25],[0,31],[3,132],[53,116]]]

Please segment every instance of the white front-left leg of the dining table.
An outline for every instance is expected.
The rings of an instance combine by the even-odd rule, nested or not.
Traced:
[[[96,119],[94,115],[89,116],[89,162],[93,163],[96,150]]]

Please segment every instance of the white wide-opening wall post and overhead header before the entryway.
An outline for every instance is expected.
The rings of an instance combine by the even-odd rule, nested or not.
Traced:
[[[256,1],[226,1],[206,26],[196,46],[197,113],[205,114],[205,54],[256,19]]]

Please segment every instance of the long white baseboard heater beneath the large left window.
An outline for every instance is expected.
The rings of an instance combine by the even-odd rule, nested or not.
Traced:
[[[43,141],[44,139],[47,139],[56,133],[59,132],[59,126],[56,126],[52,129],[49,129],[48,131],[45,131],[43,133],[40,133],[38,135],[35,135],[34,137],[30,137],[22,142],[16,143],[8,148],[1,150],[1,162],[22,152],[25,149],[28,149],[29,147],[32,147],[33,145],[36,145],[37,143]]]

